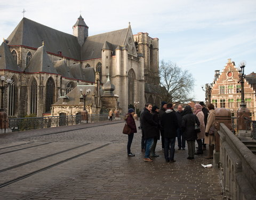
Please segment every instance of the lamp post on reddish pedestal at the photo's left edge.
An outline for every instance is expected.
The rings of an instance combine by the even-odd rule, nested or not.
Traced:
[[[3,103],[4,102],[4,90],[6,87],[9,86],[9,84],[12,83],[12,80],[10,78],[6,79],[4,76],[1,76],[0,79],[2,81],[2,84],[0,86],[0,89],[1,89],[0,129],[2,130],[2,132],[4,129],[4,133],[5,133],[6,129],[9,128],[9,124],[8,124],[8,116],[4,111],[4,103]],[[4,83],[7,83],[8,85],[5,85]]]

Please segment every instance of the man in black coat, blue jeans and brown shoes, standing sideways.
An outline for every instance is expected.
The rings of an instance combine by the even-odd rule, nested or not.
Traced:
[[[146,140],[146,150],[145,150],[145,157],[143,161],[152,162],[153,160],[149,157],[150,156],[150,149],[154,142],[154,137],[157,136],[157,123],[153,120],[153,115],[151,114],[152,104],[146,103],[146,108],[143,111],[143,116],[141,119],[142,129],[144,132],[144,138]]]

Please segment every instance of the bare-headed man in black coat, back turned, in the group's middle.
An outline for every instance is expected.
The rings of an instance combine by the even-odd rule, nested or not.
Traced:
[[[167,109],[161,118],[161,125],[164,129],[164,157],[166,162],[174,163],[175,140],[177,137],[178,119],[175,111],[172,110],[172,104],[167,104]],[[170,148],[170,157],[169,157]]]

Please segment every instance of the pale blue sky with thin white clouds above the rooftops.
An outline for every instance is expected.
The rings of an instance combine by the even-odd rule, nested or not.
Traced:
[[[159,39],[159,61],[172,61],[195,79],[191,96],[205,100],[201,86],[231,59],[245,74],[256,72],[255,0],[73,0],[0,2],[0,37],[7,38],[25,17],[73,34],[81,14],[89,36],[127,28]]]

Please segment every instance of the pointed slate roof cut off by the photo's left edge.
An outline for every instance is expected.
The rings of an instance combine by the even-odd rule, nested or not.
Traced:
[[[12,56],[9,46],[4,42],[0,46],[0,56],[0,69],[21,71]]]

